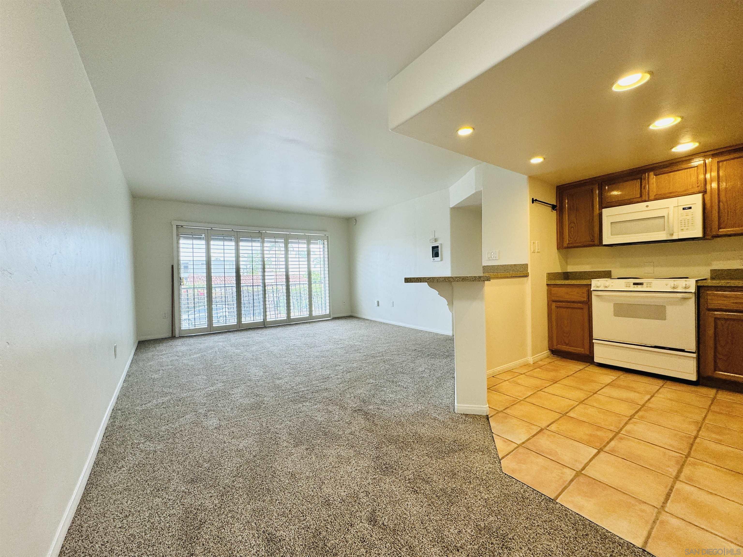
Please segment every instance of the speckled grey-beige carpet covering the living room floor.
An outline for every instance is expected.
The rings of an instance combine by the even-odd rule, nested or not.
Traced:
[[[61,555],[647,555],[502,473],[453,353],[354,318],[140,342]]]

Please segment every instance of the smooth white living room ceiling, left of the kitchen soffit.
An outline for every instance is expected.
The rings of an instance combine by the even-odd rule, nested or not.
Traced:
[[[387,129],[386,84],[481,0],[62,0],[132,194],[351,216],[477,161]]]

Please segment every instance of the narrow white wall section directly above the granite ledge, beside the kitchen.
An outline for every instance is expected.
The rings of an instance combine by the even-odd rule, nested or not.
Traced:
[[[529,262],[528,178],[487,163],[476,166],[482,180],[482,264]],[[498,250],[497,260],[487,252]]]

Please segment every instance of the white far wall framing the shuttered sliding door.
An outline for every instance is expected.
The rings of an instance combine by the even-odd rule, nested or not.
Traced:
[[[134,284],[139,339],[170,336],[172,221],[328,232],[331,311],[333,316],[350,313],[345,219],[134,198]]]

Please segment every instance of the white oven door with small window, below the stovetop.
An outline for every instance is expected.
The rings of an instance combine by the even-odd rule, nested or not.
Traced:
[[[690,292],[594,292],[594,339],[696,351]]]

